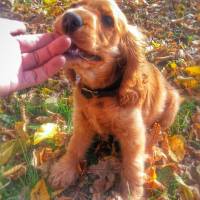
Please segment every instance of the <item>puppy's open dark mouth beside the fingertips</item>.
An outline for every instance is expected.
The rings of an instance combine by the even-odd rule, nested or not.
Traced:
[[[72,43],[71,47],[64,53],[67,58],[76,59],[81,58],[86,61],[101,61],[101,57],[91,54],[85,50],[80,49],[76,44]]]

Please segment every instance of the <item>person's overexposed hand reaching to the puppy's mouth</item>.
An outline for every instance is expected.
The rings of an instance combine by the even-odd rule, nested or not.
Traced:
[[[71,41],[55,33],[18,35],[25,26],[0,19],[0,96],[46,81],[66,64]]]

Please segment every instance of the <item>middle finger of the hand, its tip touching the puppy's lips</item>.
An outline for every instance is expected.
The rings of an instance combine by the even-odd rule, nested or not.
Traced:
[[[60,36],[49,45],[28,54],[22,55],[22,66],[25,70],[43,65],[51,58],[63,54],[70,46],[71,41],[66,36]]]

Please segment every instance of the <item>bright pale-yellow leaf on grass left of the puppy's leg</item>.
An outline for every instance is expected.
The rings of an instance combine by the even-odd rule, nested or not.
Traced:
[[[59,133],[59,127],[54,123],[43,124],[34,134],[33,144],[36,145],[46,139],[53,139]]]

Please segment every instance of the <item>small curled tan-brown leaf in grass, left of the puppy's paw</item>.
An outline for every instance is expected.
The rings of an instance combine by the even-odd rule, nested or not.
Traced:
[[[3,176],[16,180],[17,178],[23,176],[26,173],[26,170],[27,168],[24,164],[19,164],[5,171]]]

